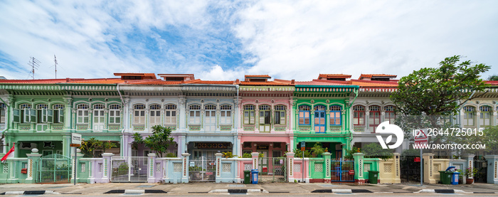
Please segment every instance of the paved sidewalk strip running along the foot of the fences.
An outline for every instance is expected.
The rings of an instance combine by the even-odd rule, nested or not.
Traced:
[[[330,183],[260,183],[240,184],[240,183],[213,183],[213,182],[193,182],[193,183],[79,183],[76,186],[70,183],[63,184],[3,184],[0,185],[0,193],[6,191],[54,191],[61,194],[95,194],[100,195],[112,190],[160,190],[167,193],[208,193],[223,189],[263,189],[268,193],[311,193],[312,191],[327,190],[366,190],[370,192],[394,192],[413,193],[422,189],[455,189],[465,192],[498,192],[498,185],[487,183],[475,183],[472,185],[440,185],[427,184],[420,187],[418,184],[363,184],[354,183],[330,184]]]

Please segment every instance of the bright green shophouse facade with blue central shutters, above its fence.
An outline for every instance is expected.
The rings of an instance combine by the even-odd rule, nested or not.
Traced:
[[[294,144],[311,149],[320,142],[332,159],[344,159],[351,149],[351,103],[359,86],[331,82],[296,82],[292,110]]]

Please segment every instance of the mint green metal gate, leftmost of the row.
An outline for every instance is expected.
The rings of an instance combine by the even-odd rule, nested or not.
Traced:
[[[71,179],[71,158],[60,154],[42,156],[37,161],[36,183],[69,183]]]

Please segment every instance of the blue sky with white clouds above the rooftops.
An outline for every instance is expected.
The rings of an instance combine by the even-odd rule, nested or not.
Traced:
[[[0,75],[408,75],[443,58],[498,74],[498,1],[0,1]]]

